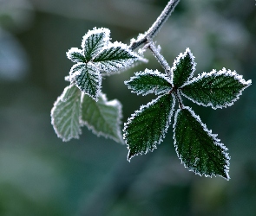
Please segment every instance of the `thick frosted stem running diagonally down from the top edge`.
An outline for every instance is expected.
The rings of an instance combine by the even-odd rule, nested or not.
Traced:
[[[139,35],[137,40],[131,41],[129,48],[131,50],[135,50],[135,48],[141,46],[142,43],[146,43],[148,40],[153,39],[153,37],[159,32],[159,30],[167,21],[167,18],[171,15],[171,13],[174,11],[174,8],[177,6],[179,2],[180,0],[170,0],[167,3],[165,9],[161,11],[161,15],[158,16],[158,18],[153,23],[153,25],[148,29],[148,31],[144,35]]]

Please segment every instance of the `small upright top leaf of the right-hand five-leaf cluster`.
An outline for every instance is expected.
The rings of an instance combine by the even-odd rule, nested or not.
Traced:
[[[190,49],[187,48],[184,54],[180,54],[174,60],[174,66],[171,68],[173,73],[173,82],[176,88],[182,86],[195,71],[194,56]]]

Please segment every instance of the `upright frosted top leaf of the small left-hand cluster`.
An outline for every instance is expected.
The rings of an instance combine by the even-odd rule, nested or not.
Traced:
[[[83,36],[82,49],[84,57],[87,61],[99,54],[103,48],[108,46],[109,42],[109,29],[93,29]]]

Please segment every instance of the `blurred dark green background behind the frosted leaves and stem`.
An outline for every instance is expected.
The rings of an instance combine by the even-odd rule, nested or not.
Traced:
[[[187,171],[176,156],[170,127],[146,156],[126,160],[126,146],[96,137],[62,143],[50,110],[68,83],[72,62],[94,27],[112,41],[146,31],[167,0],[0,0],[0,215],[256,215],[255,1],[181,0],[155,40],[169,64],[191,48],[196,73],[236,70],[253,86],[222,110],[191,105],[231,156],[230,181]],[[108,99],[123,105],[123,121],[155,96],[132,94],[124,80],[140,64],[103,80]]]

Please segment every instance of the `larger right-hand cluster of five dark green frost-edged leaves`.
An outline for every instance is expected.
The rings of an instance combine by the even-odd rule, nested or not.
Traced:
[[[228,180],[229,156],[226,147],[190,107],[183,105],[181,96],[198,105],[222,108],[233,105],[241,92],[250,86],[251,80],[246,81],[225,68],[193,78],[195,65],[194,55],[187,48],[174,60],[171,73],[146,69],[125,82],[137,94],[160,95],[135,111],[124,126],[128,161],[133,156],[153,151],[162,142],[177,101],[180,108],[174,115],[174,146],[181,162],[198,175],[220,175]]]

